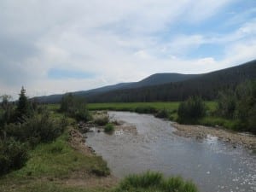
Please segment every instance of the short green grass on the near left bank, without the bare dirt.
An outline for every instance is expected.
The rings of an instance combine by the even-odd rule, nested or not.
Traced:
[[[75,173],[84,174],[84,177],[88,174],[109,174],[107,163],[101,156],[81,154],[70,147],[68,140],[69,132],[66,131],[55,142],[39,144],[30,151],[26,166],[0,179],[0,191],[89,191],[66,189],[54,182]],[[20,189],[20,185],[24,185],[24,189]],[[39,185],[44,188],[39,189]]]

